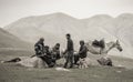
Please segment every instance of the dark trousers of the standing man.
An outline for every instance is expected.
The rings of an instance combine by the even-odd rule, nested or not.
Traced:
[[[73,51],[68,51],[68,57],[65,59],[64,68],[68,66],[69,62],[70,62],[70,68],[73,68]]]

